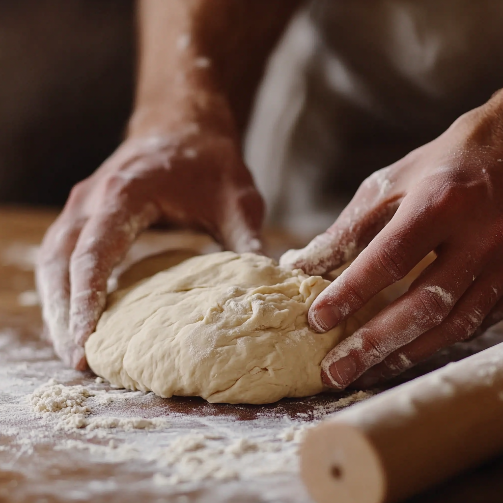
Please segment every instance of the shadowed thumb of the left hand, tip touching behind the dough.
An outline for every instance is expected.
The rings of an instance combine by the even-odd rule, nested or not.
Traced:
[[[218,232],[223,247],[236,253],[262,253],[264,202],[257,190],[249,187],[233,193],[224,208]]]

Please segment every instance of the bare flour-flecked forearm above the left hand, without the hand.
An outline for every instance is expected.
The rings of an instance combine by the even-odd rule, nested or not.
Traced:
[[[269,53],[301,0],[141,0],[130,132],[197,123],[240,136]]]

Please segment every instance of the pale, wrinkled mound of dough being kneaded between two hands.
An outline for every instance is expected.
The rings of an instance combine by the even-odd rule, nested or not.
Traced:
[[[255,254],[194,257],[112,294],[86,344],[88,363],[115,385],[162,397],[313,395],[323,390],[321,360],[348,334],[347,323],[309,328],[309,307],[329,284]]]

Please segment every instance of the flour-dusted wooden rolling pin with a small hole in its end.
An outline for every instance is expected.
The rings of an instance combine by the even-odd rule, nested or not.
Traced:
[[[308,432],[318,503],[396,503],[503,452],[503,343],[355,404]]]

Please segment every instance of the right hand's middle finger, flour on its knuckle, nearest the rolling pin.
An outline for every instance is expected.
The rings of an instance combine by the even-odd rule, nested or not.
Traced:
[[[324,358],[325,381],[343,389],[398,348],[439,326],[480,274],[480,264],[480,260],[474,261],[468,254],[460,256],[447,251],[441,255],[407,293]]]

